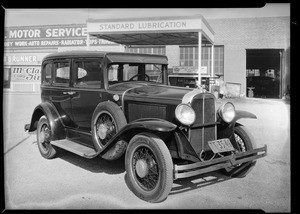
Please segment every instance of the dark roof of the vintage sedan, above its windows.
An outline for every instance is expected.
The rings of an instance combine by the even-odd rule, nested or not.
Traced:
[[[72,58],[72,57],[107,57],[111,63],[129,62],[129,63],[161,63],[168,64],[168,58],[164,55],[156,54],[139,54],[127,52],[105,52],[105,51],[91,51],[91,50],[78,50],[78,51],[63,51],[52,53],[44,57],[44,60],[55,58]]]

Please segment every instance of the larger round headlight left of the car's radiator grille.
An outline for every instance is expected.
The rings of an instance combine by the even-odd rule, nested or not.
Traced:
[[[175,109],[175,116],[179,122],[187,126],[192,125],[196,119],[194,109],[187,104],[179,104]]]

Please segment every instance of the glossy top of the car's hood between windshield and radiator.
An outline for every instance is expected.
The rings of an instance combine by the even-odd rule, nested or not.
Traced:
[[[183,96],[192,91],[189,88],[161,85],[155,83],[134,82],[110,86],[109,92],[118,94],[125,100],[179,104]]]

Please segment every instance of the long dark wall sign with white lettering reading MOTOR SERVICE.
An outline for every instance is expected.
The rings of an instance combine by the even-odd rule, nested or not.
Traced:
[[[4,31],[4,47],[86,46],[86,25],[9,27]],[[90,45],[112,45],[110,41],[91,38]]]

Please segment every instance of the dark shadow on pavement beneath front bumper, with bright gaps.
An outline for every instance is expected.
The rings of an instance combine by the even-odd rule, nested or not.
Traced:
[[[214,185],[230,179],[232,178],[221,174],[220,171],[209,172],[189,178],[181,178],[174,181],[170,195],[176,195],[182,192]]]

